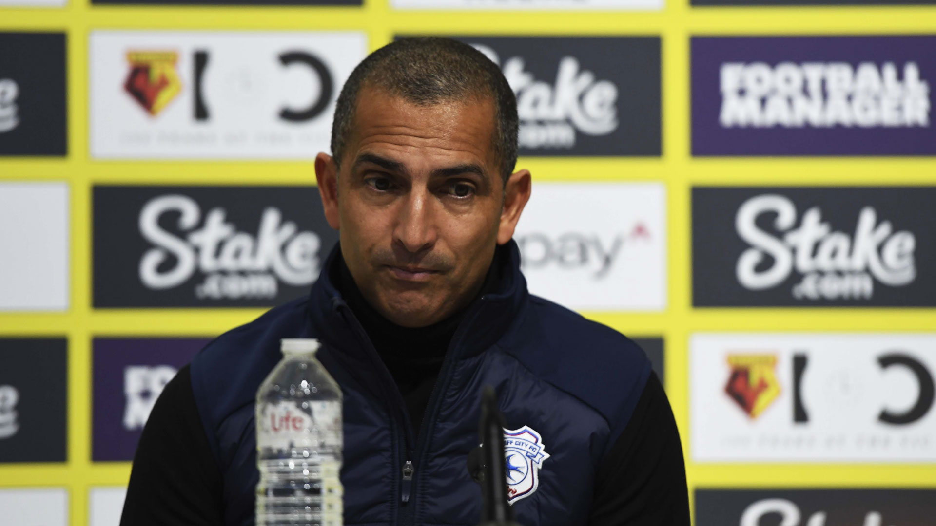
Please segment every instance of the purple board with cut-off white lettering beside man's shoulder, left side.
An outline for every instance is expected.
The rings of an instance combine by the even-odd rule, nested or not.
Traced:
[[[133,460],[159,393],[210,338],[95,338],[92,460]]]

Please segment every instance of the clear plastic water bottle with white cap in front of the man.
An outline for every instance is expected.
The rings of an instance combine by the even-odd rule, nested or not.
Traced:
[[[256,392],[256,526],[342,526],[342,391],[317,340],[282,342]]]

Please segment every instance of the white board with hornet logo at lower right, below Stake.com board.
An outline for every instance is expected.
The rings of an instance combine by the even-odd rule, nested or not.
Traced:
[[[936,461],[936,334],[696,334],[693,459]]]

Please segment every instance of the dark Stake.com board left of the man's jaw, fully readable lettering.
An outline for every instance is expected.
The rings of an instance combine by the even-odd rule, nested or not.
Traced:
[[[260,307],[338,241],[314,186],[95,186],[95,307]]]

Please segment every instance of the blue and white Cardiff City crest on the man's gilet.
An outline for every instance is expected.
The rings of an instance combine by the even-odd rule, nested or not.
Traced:
[[[504,430],[504,456],[507,502],[514,504],[539,487],[539,470],[549,454],[539,433],[523,426],[519,430]]]

